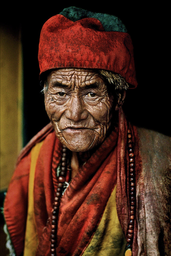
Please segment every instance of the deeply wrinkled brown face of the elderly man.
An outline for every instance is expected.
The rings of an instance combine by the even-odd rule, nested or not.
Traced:
[[[63,68],[47,79],[45,108],[56,136],[71,151],[101,144],[110,126],[113,96],[93,70]]]

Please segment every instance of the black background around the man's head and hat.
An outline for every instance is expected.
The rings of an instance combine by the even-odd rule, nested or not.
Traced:
[[[134,46],[138,87],[127,92],[124,111],[129,120],[147,129],[166,135],[170,132],[170,74],[168,67],[169,24],[167,5],[145,2],[125,4],[104,1],[62,4],[46,2],[34,6],[25,2],[10,5],[1,15],[2,23],[13,29],[21,28],[24,66],[24,145],[47,123],[44,96],[40,93],[38,44],[43,24],[64,8],[77,6],[92,12],[119,17],[126,25]]]

